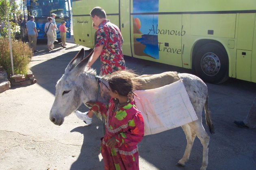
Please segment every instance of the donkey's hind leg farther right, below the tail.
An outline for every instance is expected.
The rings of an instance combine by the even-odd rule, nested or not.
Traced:
[[[199,138],[200,142],[203,145],[203,161],[202,166],[200,170],[206,170],[208,166],[208,150],[209,150],[209,142],[210,137],[204,130],[204,126],[202,125],[202,122],[199,120],[193,121],[189,123],[190,127],[195,132],[196,136]]]

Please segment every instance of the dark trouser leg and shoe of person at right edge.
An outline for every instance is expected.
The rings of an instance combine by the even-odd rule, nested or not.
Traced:
[[[243,121],[234,121],[234,123],[242,128],[256,128],[256,98],[254,98],[254,102],[246,118]]]

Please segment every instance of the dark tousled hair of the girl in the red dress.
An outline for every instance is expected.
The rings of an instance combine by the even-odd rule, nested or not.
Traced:
[[[117,91],[121,96],[128,96],[135,90],[139,83],[134,80],[138,75],[131,71],[117,71],[108,78],[108,85],[112,91]]]

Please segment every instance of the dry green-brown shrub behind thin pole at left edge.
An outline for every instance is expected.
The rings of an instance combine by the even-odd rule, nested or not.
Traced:
[[[17,40],[12,41],[12,49],[14,74],[26,74],[33,56],[32,50],[26,43]],[[12,74],[10,46],[7,38],[0,38],[0,66],[7,70],[8,76]]]

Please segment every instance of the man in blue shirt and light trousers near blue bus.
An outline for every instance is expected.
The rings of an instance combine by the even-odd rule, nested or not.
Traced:
[[[34,16],[30,16],[30,20],[26,23],[26,30],[28,33],[28,42],[30,45],[30,48],[33,48],[34,52],[38,52],[37,51],[37,28],[35,25],[35,17]]]

